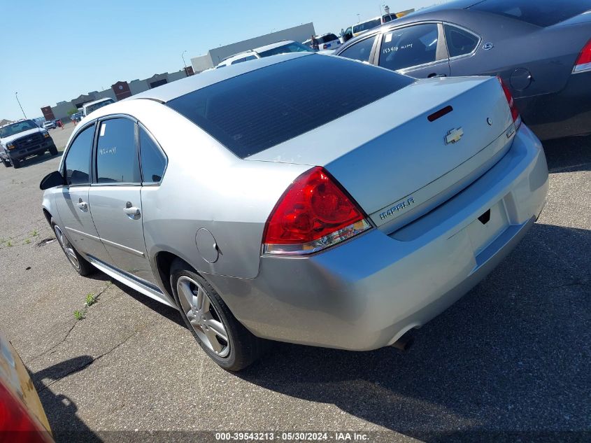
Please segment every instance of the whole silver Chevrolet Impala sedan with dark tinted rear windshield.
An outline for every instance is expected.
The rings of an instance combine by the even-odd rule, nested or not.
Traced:
[[[497,78],[292,54],[90,113],[41,188],[79,274],[177,308],[241,370],[271,340],[399,346],[520,241],[548,169]]]

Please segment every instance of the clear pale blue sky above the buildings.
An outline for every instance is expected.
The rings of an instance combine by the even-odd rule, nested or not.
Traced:
[[[318,34],[337,33],[390,12],[441,0],[73,1],[3,0],[0,119],[41,116],[119,80],[183,69],[209,49],[313,22]]]

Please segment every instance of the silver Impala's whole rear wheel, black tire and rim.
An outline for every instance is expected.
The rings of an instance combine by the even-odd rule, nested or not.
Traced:
[[[182,260],[171,265],[171,288],[185,325],[220,367],[240,371],[262,356],[268,342],[238,322],[213,286]]]

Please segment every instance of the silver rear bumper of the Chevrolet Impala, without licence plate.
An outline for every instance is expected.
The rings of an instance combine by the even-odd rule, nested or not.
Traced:
[[[376,349],[440,314],[483,279],[532,226],[547,192],[541,143],[522,125],[492,169],[393,234],[374,228],[306,258],[263,256],[252,280],[208,279],[259,337]],[[478,217],[489,209],[484,225]]]

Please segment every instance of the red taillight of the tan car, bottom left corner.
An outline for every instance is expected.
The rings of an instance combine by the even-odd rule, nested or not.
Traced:
[[[27,412],[24,404],[1,382],[0,436],[6,437],[7,442],[15,443],[46,443],[53,441],[48,431]],[[2,440],[1,437],[0,440]]]

